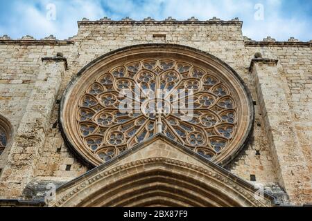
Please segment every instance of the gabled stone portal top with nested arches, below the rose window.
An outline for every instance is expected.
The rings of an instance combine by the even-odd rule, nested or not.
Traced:
[[[61,186],[51,205],[262,207],[274,202],[272,195],[156,135]]]

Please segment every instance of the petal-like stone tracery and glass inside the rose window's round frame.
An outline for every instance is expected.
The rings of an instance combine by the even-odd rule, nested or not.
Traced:
[[[162,108],[162,133],[209,160],[226,151],[236,135],[238,112],[234,98],[223,81],[202,68],[182,61],[143,59],[120,64],[109,73],[98,75],[80,97],[76,110],[77,128],[83,146],[103,162],[144,142],[157,133],[157,111],[150,100],[137,100],[139,112],[122,113],[121,90],[129,89],[133,97],[144,90],[189,89],[195,92],[193,117],[182,120],[184,113],[175,112],[171,93],[155,106]],[[187,96],[187,95],[185,95]]]

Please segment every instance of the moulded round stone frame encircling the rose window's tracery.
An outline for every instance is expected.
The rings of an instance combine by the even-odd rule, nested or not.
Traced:
[[[75,110],[79,103],[78,99],[81,97],[82,93],[85,92],[83,90],[85,90],[86,85],[89,86],[92,84],[90,79],[94,79],[95,76],[99,75],[98,73],[103,73],[105,67],[118,66],[120,62],[126,63],[128,61],[134,61],[137,57],[162,57],[162,55],[172,57],[172,59],[183,57],[192,62],[205,64],[205,66],[209,66],[209,68],[218,73],[218,77],[226,81],[227,85],[231,86],[231,89],[233,89],[231,94],[234,94],[234,102],[236,102],[236,106],[239,107],[240,116],[239,122],[237,123],[236,135],[233,138],[234,142],[232,141],[225,151],[218,155],[213,162],[220,166],[229,164],[241,149],[248,144],[254,124],[254,106],[250,91],[243,79],[241,79],[233,68],[207,52],[188,46],[175,44],[142,44],[114,50],[98,57],[80,70],[64,91],[62,101],[60,102],[60,128],[62,136],[69,148],[73,149],[78,157],[88,166],[99,166],[103,164],[103,162],[83,147],[77,135],[78,130],[75,125]]]

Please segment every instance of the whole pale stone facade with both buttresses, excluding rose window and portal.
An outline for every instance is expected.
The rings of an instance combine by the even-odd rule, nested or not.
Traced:
[[[263,185],[280,204],[311,204],[312,43],[252,41],[242,25],[216,18],[83,19],[78,35],[66,41],[0,37],[0,114],[13,131],[0,156],[0,198],[42,200],[42,184],[60,186],[89,171],[65,144],[58,122],[62,94],[84,66],[128,46],[179,44],[223,60],[252,94],[252,137],[225,169]]]

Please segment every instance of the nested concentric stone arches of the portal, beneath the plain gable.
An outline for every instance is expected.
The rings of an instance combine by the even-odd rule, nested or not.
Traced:
[[[254,198],[250,186],[234,182],[198,166],[155,158],[83,180],[55,206],[270,206],[270,200]]]

